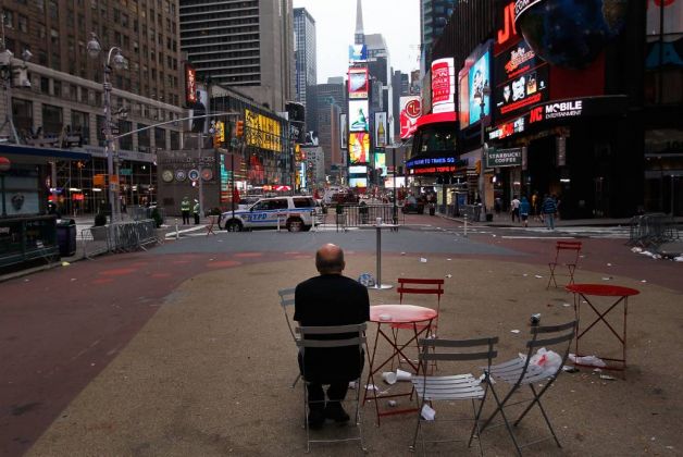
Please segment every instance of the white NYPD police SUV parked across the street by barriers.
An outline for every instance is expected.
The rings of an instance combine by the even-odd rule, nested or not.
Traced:
[[[313,197],[262,198],[245,210],[225,211],[219,226],[228,232],[252,228],[287,228],[289,232],[308,231],[313,226],[315,200]]]

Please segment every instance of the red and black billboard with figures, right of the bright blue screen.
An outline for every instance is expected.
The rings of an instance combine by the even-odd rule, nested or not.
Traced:
[[[536,57],[525,40],[494,58],[494,100],[500,119],[521,114],[532,104],[548,99],[548,65]]]

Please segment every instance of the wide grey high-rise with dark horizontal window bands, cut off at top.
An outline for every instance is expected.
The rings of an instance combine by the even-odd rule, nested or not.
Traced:
[[[294,97],[291,0],[181,0],[181,48],[199,79],[275,111]]]

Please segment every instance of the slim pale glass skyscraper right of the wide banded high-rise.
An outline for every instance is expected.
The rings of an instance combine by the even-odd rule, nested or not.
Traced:
[[[294,10],[294,37],[296,100],[306,107],[307,88],[318,84],[318,66],[315,62],[315,20],[305,8],[295,8]]]

